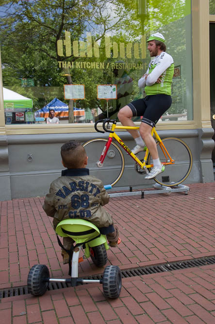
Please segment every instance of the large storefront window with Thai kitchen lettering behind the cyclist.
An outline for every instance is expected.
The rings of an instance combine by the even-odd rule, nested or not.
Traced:
[[[175,63],[172,106],[161,121],[193,119],[191,0],[2,2],[5,124],[117,118],[143,95],[138,79],[154,32]]]

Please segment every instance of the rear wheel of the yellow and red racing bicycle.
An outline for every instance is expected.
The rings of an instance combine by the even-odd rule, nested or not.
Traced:
[[[154,180],[164,186],[173,187],[182,183],[189,176],[193,164],[192,153],[188,145],[178,138],[168,137],[162,142],[175,163],[165,164],[170,162],[169,156],[160,142],[157,142],[158,155],[161,163],[165,165],[165,171],[160,173]],[[152,163],[149,154],[149,164]]]

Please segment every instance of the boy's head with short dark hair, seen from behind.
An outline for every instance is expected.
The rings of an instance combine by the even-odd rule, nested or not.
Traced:
[[[86,151],[79,141],[68,141],[61,146],[61,157],[67,169],[77,169],[83,166]]]

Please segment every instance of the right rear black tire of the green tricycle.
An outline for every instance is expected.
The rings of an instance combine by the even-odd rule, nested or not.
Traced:
[[[107,266],[103,272],[103,293],[107,298],[118,298],[122,288],[122,275],[119,267]]]

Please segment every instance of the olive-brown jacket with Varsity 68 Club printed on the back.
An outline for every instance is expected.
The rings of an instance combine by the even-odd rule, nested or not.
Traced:
[[[113,224],[112,216],[101,206],[109,202],[109,195],[101,180],[89,175],[89,169],[66,169],[50,185],[43,209],[53,217],[53,226],[66,218],[82,218],[98,227]]]

